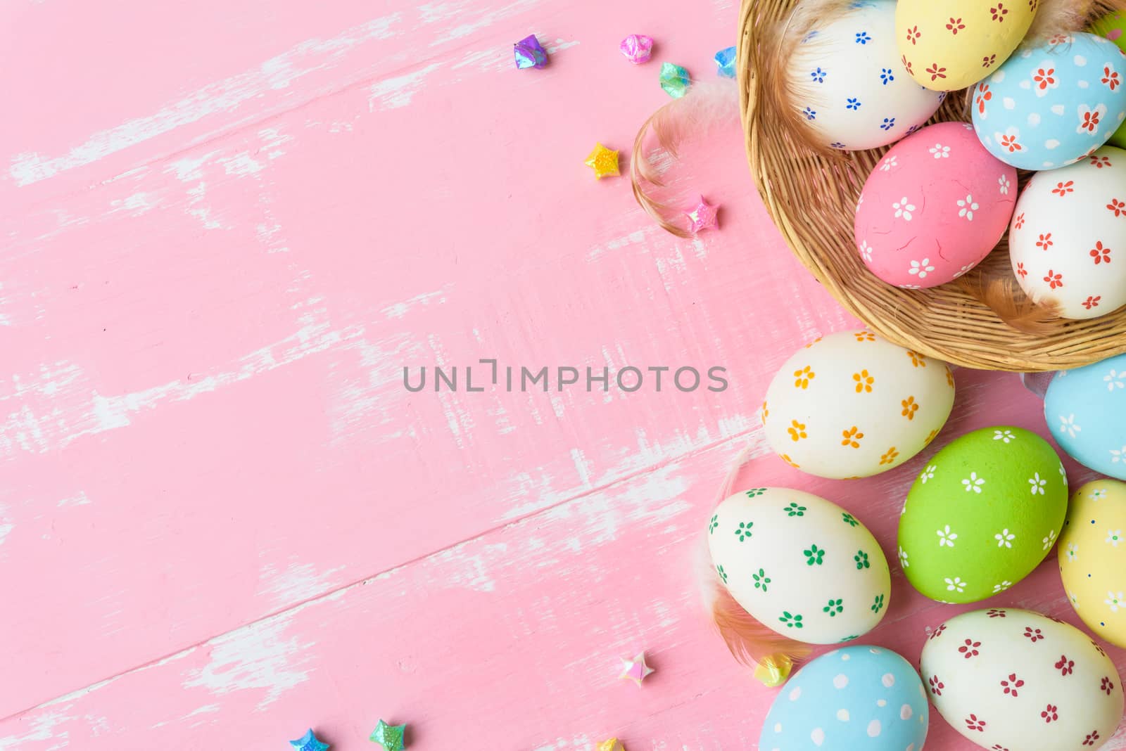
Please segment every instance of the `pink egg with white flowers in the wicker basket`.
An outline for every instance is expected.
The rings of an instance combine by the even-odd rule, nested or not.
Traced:
[[[890,284],[937,287],[990,254],[1009,227],[1017,170],[965,123],[930,125],[892,146],[864,183],[854,235]]]

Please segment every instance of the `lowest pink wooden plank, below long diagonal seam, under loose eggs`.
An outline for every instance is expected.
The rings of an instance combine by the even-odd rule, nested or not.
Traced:
[[[1013,380],[959,372],[959,407],[939,443],[995,422],[1035,428],[1035,398]],[[888,614],[866,641],[917,662],[927,626],[971,609],[924,599],[894,563],[899,507],[926,456],[891,477],[839,482],[752,443],[742,483],[834,498],[893,561]],[[420,751],[591,749],[614,734],[631,751],[753,748],[774,694],[709,632],[694,572],[713,494],[741,445],[696,452],[9,718],[0,749],[269,749],[313,725],[337,751],[359,751],[379,716],[411,723]],[[1052,561],[982,605],[1078,623]],[[641,649],[658,672],[638,690],[616,676],[617,658]],[[1126,653],[1111,655],[1126,668]],[[975,748],[931,720],[928,748]],[[1124,733],[1103,748],[1126,748]]]

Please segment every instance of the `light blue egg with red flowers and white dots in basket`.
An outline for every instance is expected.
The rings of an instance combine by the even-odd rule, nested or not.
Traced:
[[[973,91],[977,137],[1021,170],[1054,170],[1126,120],[1126,54],[1093,34],[1026,42]]]

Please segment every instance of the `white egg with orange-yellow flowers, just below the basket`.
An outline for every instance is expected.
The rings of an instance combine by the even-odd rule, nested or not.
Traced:
[[[807,344],[781,367],[762,405],[767,442],[810,474],[869,477],[930,443],[954,407],[946,363],[872,332]]]

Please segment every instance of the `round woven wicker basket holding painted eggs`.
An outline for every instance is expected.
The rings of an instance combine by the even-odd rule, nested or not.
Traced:
[[[1126,352],[1126,308],[1093,320],[1057,320],[1045,334],[1013,329],[958,283],[905,290],[877,279],[852,242],[857,198],[886,148],[819,154],[796,144],[761,96],[756,76],[766,25],[799,0],[743,0],[740,12],[740,112],[759,193],[783,237],[813,275],[879,335],[947,362],[988,370],[1078,368]],[[1102,9],[1110,0],[1099,0]],[[965,98],[947,97],[938,120],[964,120]],[[1027,175],[1022,175],[1027,179]],[[1008,268],[1008,237],[983,269]],[[1011,273],[1008,271],[1007,273]]]

